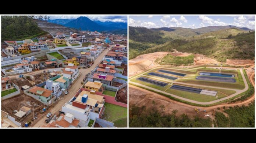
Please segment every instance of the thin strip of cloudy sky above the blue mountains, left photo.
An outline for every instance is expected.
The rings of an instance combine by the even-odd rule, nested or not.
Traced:
[[[121,16],[121,15],[48,15],[50,19],[77,19],[80,16],[86,16],[90,20],[99,20],[102,22],[111,21],[111,22],[127,22],[127,16]]]

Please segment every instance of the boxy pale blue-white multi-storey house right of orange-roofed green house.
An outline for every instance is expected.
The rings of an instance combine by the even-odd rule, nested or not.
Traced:
[[[60,88],[60,83],[55,82],[53,80],[47,80],[46,81],[46,86],[45,89],[53,91],[51,94],[59,97],[62,94],[61,88]]]

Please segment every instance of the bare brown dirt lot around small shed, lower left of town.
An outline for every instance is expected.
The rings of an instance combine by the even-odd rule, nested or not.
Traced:
[[[36,106],[38,105],[38,106]],[[28,116],[25,116],[23,118],[19,118],[15,116],[14,110],[19,111],[19,109],[22,106],[26,106],[28,108],[31,108],[32,112],[28,114]],[[10,116],[14,117],[15,120],[18,122],[22,123],[22,127],[24,127],[26,122],[32,121],[33,120],[33,106],[35,107],[35,117],[40,118],[41,116],[44,116],[43,114],[40,113],[40,111],[45,107],[43,104],[41,104],[39,101],[36,99],[33,99],[29,96],[26,96],[24,94],[15,96],[13,98],[6,99],[1,102],[1,109]]]

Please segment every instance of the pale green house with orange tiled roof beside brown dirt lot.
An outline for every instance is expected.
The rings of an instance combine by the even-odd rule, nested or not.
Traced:
[[[49,103],[52,98],[53,91],[43,89],[42,87],[34,86],[31,89],[28,90],[28,93],[38,96],[39,99],[41,99],[42,102]]]

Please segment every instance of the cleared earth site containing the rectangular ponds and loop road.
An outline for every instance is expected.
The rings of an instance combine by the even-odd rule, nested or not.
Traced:
[[[254,60],[227,59],[220,63],[194,54],[192,65],[160,65],[167,54],[189,55],[156,52],[129,60],[129,107],[161,110],[163,105],[164,113],[178,110],[177,116],[185,113],[191,118],[214,118],[216,111],[223,112],[222,107],[248,105],[254,100],[253,94],[244,101],[230,103],[254,87]]]

